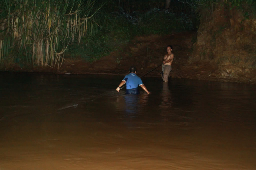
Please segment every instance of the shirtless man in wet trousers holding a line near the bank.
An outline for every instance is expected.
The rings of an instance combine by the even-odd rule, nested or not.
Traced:
[[[173,53],[172,53],[172,46],[167,46],[167,54],[163,57],[163,81],[168,82],[170,71],[172,70],[172,61],[173,61]]]

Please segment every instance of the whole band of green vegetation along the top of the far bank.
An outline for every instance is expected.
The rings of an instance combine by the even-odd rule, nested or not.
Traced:
[[[253,0],[179,0],[171,1],[168,10],[165,2],[2,0],[0,64],[59,68],[63,57],[94,62],[120,50],[134,36],[194,30],[199,25],[200,9],[213,11],[217,3],[246,8],[246,17],[256,11]]]

